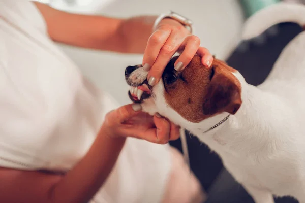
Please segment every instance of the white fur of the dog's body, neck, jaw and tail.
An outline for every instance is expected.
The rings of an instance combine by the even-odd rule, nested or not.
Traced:
[[[305,25],[305,7],[280,3],[251,17],[243,37],[255,37],[280,22]],[[219,127],[204,133],[225,118],[222,113],[199,123],[182,118],[167,105],[162,80],[142,103],[188,129],[221,157],[227,170],[257,203],[276,196],[293,196],[305,202],[305,32],[282,51],[266,81],[254,87],[240,73],[232,73],[242,87],[242,105]]]

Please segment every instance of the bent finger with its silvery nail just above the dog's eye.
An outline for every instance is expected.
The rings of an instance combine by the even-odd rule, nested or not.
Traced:
[[[189,36],[182,43],[181,48],[184,47],[184,51],[180,54],[175,62],[175,70],[183,70],[192,60],[200,46],[200,39],[197,36]]]

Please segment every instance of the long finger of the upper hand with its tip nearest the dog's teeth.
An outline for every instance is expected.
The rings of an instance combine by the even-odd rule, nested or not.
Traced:
[[[159,82],[167,63],[181,46],[182,42],[183,38],[178,34],[178,32],[171,33],[167,41],[159,49],[157,58],[148,73],[147,79],[149,85],[154,86]]]

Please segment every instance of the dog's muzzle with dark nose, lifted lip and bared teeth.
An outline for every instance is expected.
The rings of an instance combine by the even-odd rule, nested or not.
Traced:
[[[141,103],[151,95],[151,86],[147,82],[148,70],[142,65],[128,66],[125,69],[125,80],[130,87],[129,98],[134,103]]]

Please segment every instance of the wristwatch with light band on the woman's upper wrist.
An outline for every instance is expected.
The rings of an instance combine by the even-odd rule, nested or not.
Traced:
[[[164,18],[171,18],[171,19],[173,19],[173,20],[176,20],[176,21],[178,21],[179,23],[181,23],[183,26],[185,26],[191,33],[193,32],[193,22],[192,22],[190,19],[188,19],[188,18],[186,18],[186,17],[184,17],[184,16],[181,16],[181,15],[175,13],[175,12],[172,12],[172,11],[171,11],[169,14],[162,14],[162,15],[160,15],[160,16],[156,19],[156,21],[155,21],[155,23],[154,23],[153,31],[156,30],[158,24],[159,24]]]

